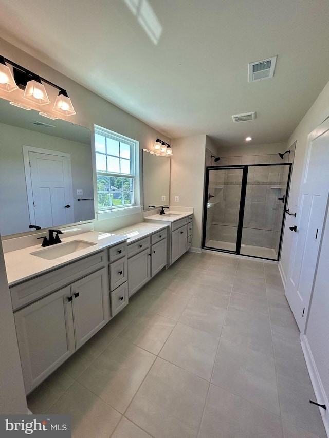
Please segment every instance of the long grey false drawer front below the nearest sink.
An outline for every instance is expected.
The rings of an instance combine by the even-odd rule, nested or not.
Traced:
[[[34,277],[10,288],[13,310],[54,292],[86,274],[103,268],[108,262],[107,251],[96,253],[62,268]]]

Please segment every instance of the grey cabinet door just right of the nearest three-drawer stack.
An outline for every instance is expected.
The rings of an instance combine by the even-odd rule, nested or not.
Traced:
[[[131,297],[151,278],[151,250],[128,259],[128,296]]]

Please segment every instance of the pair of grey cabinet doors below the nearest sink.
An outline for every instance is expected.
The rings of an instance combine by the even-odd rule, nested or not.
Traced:
[[[61,271],[54,272],[61,276]],[[39,280],[46,283],[47,277]],[[14,319],[29,393],[110,319],[107,269],[29,304],[15,312]]]

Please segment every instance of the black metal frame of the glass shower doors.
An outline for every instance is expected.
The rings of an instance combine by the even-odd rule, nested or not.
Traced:
[[[289,191],[290,191],[290,180],[291,180],[291,170],[293,167],[293,163],[268,163],[268,164],[237,164],[237,165],[227,165],[227,166],[207,166],[206,167],[206,178],[205,178],[205,193],[204,193],[204,214],[203,214],[203,230],[202,230],[202,249],[211,250],[211,251],[217,251],[222,253],[228,253],[228,254],[236,254],[241,255],[244,257],[252,257],[252,258],[258,258],[258,259],[264,259],[264,260],[274,260],[270,259],[268,257],[259,257],[259,256],[251,256],[246,254],[241,254],[241,240],[242,240],[242,231],[243,231],[243,218],[244,218],[244,211],[245,211],[245,199],[246,199],[246,191],[247,191],[247,183],[248,183],[248,169],[249,167],[265,167],[265,166],[289,166],[289,172],[288,172],[288,179],[287,179],[287,191],[286,196],[284,200],[283,205],[283,218],[282,218],[282,224],[281,224],[281,230],[280,230],[280,241],[279,241],[279,250],[277,259],[275,261],[280,261],[280,255],[281,255],[281,247],[282,247],[282,240],[283,240],[283,232],[284,232],[284,225],[285,225],[285,218],[286,218],[286,210],[288,205],[288,198],[289,198]],[[209,173],[211,170],[229,170],[229,169],[242,169],[242,180],[241,180],[241,194],[240,194],[240,209],[239,209],[239,221],[237,226],[237,238],[236,238],[236,247],[235,251],[230,250],[221,250],[217,248],[212,248],[209,246],[206,246],[206,228],[207,228],[207,204],[208,204],[208,187],[209,187]]]

